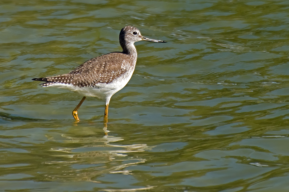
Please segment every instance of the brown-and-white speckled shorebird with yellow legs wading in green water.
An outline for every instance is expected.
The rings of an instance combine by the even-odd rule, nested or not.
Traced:
[[[134,72],[137,59],[134,43],[142,40],[166,43],[143,37],[136,27],[126,26],[119,33],[122,52],[112,52],[92,58],[67,74],[32,80],[45,82],[41,84],[42,87],[67,88],[83,95],[84,97],[72,112],[77,122],[79,122],[77,110],[86,97],[103,99],[105,101],[104,119],[107,120],[110,98],[129,82]]]

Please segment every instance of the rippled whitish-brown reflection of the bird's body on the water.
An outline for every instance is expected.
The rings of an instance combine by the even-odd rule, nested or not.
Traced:
[[[52,142],[61,142],[62,140],[72,146],[51,148],[53,160],[47,160],[43,164],[54,171],[42,175],[44,180],[98,182],[97,177],[103,174],[129,174],[129,171],[125,170],[126,167],[144,163],[145,159],[127,158],[127,154],[144,152],[149,149],[145,144],[113,144],[123,140],[121,137],[115,136],[79,137],[62,134],[61,137],[50,137],[49,140]],[[54,169],[56,167],[61,169]]]

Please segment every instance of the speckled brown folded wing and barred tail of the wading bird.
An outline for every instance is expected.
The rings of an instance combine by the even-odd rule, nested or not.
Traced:
[[[97,83],[108,84],[126,73],[128,67],[125,65],[133,65],[133,63],[127,62],[130,60],[131,58],[129,58],[127,54],[112,52],[92,58],[70,73],[53,77],[36,78],[33,80],[47,82],[41,84],[42,86],[49,86],[54,83],[64,83],[78,87],[94,87]]]

